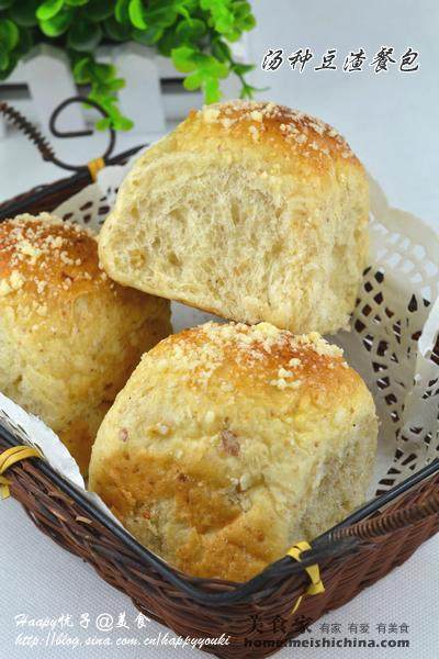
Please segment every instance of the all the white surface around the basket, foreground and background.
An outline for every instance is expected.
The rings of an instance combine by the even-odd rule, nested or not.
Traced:
[[[317,0],[308,0],[302,7],[289,0],[278,0],[275,5],[269,0],[259,0],[254,5],[259,25],[251,35],[250,48],[258,64],[268,47],[283,47],[290,54],[306,46],[315,53],[330,47],[346,53],[360,46],[373,52],[381,45],[393,45],[395,52],[399,52],[410,45],[420,52],[420,70],[405,76],[395,70],[381,76],[370,70],[352,76],[342,71],[300,75],[282,67],[271,74],[259,68],[255,82],[260,87],[270,86],[270,91],[264,92],[267,98],[301,108],[335,124],[380,180],[391,203],[417,214],[438,230],[439,93],[435,66],[439,60],[436,36],[439,5],[436,0],[417,3],[372,0],[354,3],[354,8],[353,3],[341,0],[333,0],[325,7]],[[145,136],[122,136],[119,150],[145,139]],[[79,163],[87,160],[90,153],[99,153],[103,141],[98,136],[88,143],[78,141],[75,145],[59,144],[58,147],[61,154]],[[42,165],[33,147],[19,135],[0,141],[0,199],[60,176],[55,167]],[[154,622],[143,621],[145,626],[137,628],[139,621],[136,622],[137,614],[131,602],[99,579],[87,563],[38,533],[11,499],[0,504],[0,656],[63,659],[75,652],[80,659],[128,659],[179,652],[189,656],[192,651],[176,649],[170,645],[172,635],[164,638],[166,629]],[[432,659],[439,643],[438,554],[439,536],[373,588],[322,618],[301,638],[309,646],[312,640],[319,641],[320,646],[345,643],[345,637],[365,638],[376,645],[384,641],[387,647],[376,649],[379,657],[396,656],[392,643],[406,639],[409,647],[398,648],[398,657]],[[102,630],[103,619],[108,626],[109,621],[111,623],[111,617],[104,614],[112,616],[112,630]],[[61,615],[71,618],[63,619],[66,624],[63,629],[63,621],[58,619],[49,637],[47,627],[41,626],[43,623],[35,626],[38,619],[46,619],[46,624],[52,621],[54,625]],[[124,622],[130,629],[122,626]],[[160,633],[162,645],[159,645]],[[74,644],[75,638],[80,643],[76,648],[68,645]],[[140,649],[138,645],[126,645],[133,638],[138,643],[156,639],[157,645]],[[38,645],[32,646],[35,639]],[[86,645],[87,639],[89,643],[94,639],[94,645]],[[303,647],[301,650],[285,648],[278,656],[301,652],[300,656],[313,659],[335,659],[344,650],[346,656],[352,652],[349,647]],[[373,656],[370,647],[353,651],[359,657]]]

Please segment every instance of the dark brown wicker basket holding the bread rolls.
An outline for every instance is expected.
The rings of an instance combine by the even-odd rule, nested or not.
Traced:
[[[113,158],[122,163],[128,154]],[[90,182],[85,171],[36,188],[0,205],[0,221],[20,212],[52,211]],[[397,332],[397,328],[395,328]],[[439,355],[438,346],[436,353]],[[22,444],[0,424],[0,451]],[[44,460],[8,470],[11,495],[45,534],[90,562],[144,614],[183,637],[229,637],[206,645],[218,657],[262,657],[331,608],[403,563],[439,529],[439,460],[356,511],[313,541],[300,561],[277,561],[245,584],[181,574],[133,539]],[[325,591],[297,599],[308,587],[305,568],[318,563]]]

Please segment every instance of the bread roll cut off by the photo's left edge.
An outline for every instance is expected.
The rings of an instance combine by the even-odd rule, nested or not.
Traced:
[[[0,222],[0,391],[50,426],[87,472],[98,427],[169,302],[99,268],[94,237],[47,213]]]

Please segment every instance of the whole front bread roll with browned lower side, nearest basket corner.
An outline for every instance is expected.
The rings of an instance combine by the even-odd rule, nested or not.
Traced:
[[[183,572],[244,581],[363,501],[376,427],[364,382],[318,334],[209,323],[144,355],[89,485]]]

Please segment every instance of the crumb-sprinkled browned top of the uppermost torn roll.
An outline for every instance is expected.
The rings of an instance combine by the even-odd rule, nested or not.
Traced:
[[[346,139],[333,126],[300,110],[292,110],[272,102],[232,100],[205,105],[199,115],[207,124],[221,124],[226,131],[234,125],[250,122],[249,134],[255,142],[267,131],[266,120],[278,120],[284,139],[303,147],[305,157],[311,155],[330,156],[325,138],[330,139],[331,148],[342,158],[352,158],[353,153]],[[252,122],[252,123],[251,123]]]

